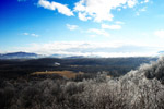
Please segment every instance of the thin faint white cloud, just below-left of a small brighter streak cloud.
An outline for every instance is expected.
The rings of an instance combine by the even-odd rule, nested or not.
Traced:
[[[106,36],[106,37],[110,36],[109,33],[107,33],[106,31],[97,29],[97,28],[90,28],[90,29],[87,29],[87,33],[92,33],[92,34],[94,33],[95,35],[102,35],[102,36]]]

